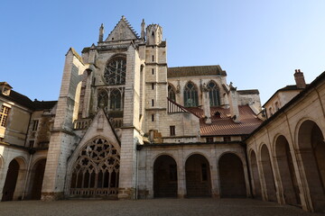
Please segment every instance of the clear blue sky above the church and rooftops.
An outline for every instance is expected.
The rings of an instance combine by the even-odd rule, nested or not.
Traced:
[[[105,37],[122,15],[159,23],[168,67],[220,65],[237,89],[260,91],[262,103],[325,70],[323,0],[3,0],[0,4],[0,81],[32,100],[57,100],[65,54],[80,54]]]

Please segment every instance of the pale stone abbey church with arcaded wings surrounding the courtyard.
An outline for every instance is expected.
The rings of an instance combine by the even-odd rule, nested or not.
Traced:
[[[57,102],[0,83],[3,201],[256,197],[323,211],[323,156],[306,153],[324,146],[321,78],[274,94],[265,110],[277,100],[278,112],[259,119],[258,91],[221,67],[168,67],[158,24],[138,36],[123,16],[104,36],[101,25],[97,45],[68,50]],[[308,132],[317,145],[299,144]]]

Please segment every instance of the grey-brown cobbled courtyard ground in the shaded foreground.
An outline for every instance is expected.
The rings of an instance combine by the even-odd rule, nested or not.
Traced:
[[[57,202],[21,201],[0,202],[0,215],[258,215],[300,216],[322,215],[302,211],[289,205],[251,199],[153,199],[137,201],[70,200]]]

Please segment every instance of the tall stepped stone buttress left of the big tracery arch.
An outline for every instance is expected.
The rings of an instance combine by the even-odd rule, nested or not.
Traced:
[[[51,130],[42,184],[42,200],[57,200],[64,197],[68,157],[74,143],[79,141],[73,132],[73,121],[78,118],[81,80],[85,69],[79,54],[70,48],[66,55],[58,107]]]

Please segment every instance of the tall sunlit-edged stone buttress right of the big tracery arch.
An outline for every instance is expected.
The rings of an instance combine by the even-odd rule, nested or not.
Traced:
[[[140,67],[141,61],[135,48],[130,45],[126,54],[125,99],[122,139],[121,166],[119,171],[119,199],[135,199],[136,187],[136,144],[140,113]]]

